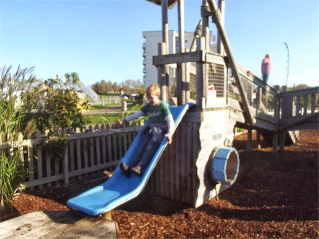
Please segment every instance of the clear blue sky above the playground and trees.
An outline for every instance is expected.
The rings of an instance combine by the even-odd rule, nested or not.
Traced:
[[[195,30],[201,2],[185,0],[185,31]],[[177,24],[176,4],[169,30]],[[34,66],[38,79],[76,72],[89,86],[142,80],[142,32],[156,30],[161,8],[146,0],[0,0],[0,68]],[[285,42],[287,86],[319,85],[319,0],[225,0],[225,30],[236,62],[255,75],[271,54],[270,85],[286,84]]]

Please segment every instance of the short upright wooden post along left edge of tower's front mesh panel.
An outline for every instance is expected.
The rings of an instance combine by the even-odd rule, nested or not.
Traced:
[[[205,44],[205,38],[199,37],[196,39],[197,50],[203,50]],[[196,63],[196,108],[205,109],[206,108],[206,92],[204,88],[204,70],[205,63],[197,62]]]

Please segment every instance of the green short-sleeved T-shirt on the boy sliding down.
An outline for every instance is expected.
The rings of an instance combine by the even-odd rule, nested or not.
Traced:
[[[152,106],[148,103],[141,111],[148,115],[150,123],[163,123],[166,120],[166,116],[171,114],[168,106],[162,101],[157,106]]]

